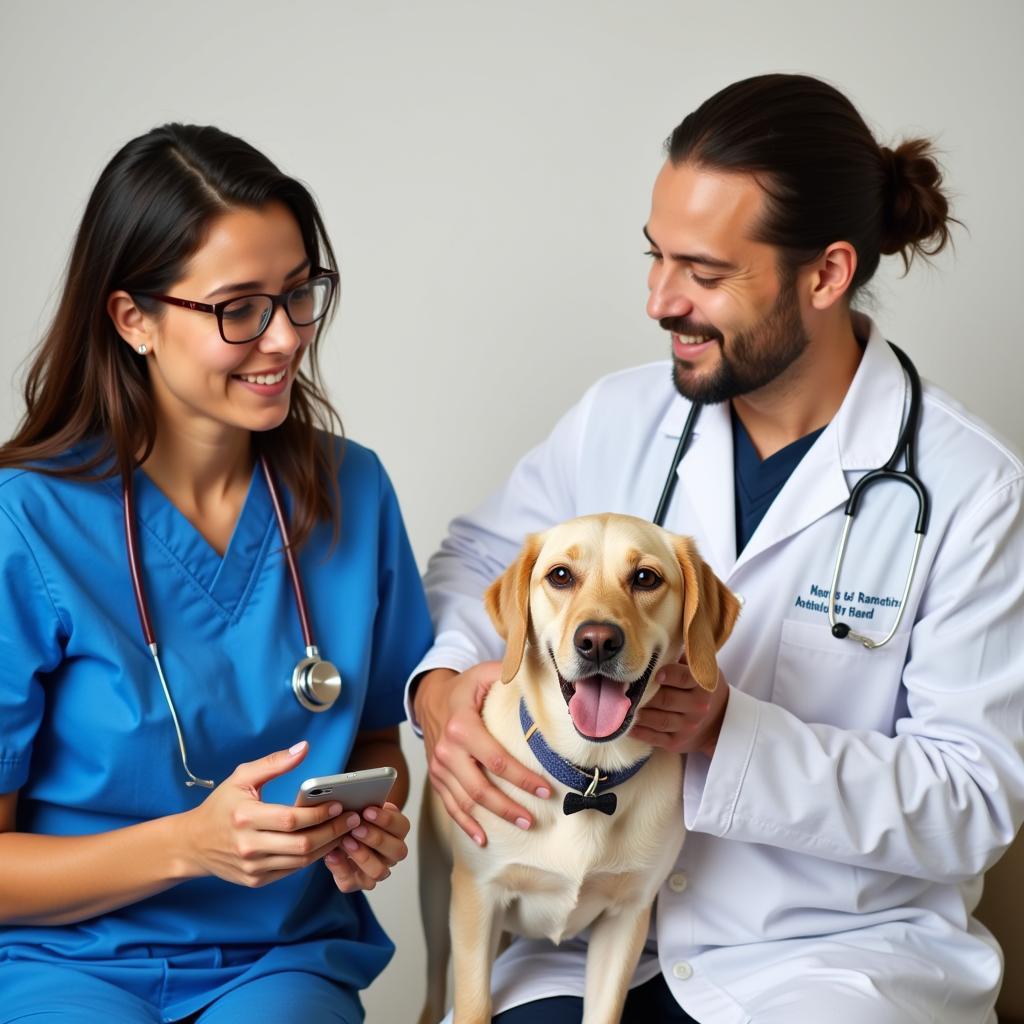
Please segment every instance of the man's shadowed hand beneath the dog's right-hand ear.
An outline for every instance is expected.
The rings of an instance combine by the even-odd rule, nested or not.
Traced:
[[[720,675],[715,689],[702,689],[685,659],[658,669],[656,679],[660,689],[640,709],[630,735],[674,754],[699,753],[710,758],[722,731],[729,684]]]

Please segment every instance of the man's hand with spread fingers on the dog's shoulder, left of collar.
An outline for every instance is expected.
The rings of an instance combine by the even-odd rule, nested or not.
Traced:
[[[550,783],[511,758],[480,717],[483,698],[500,674],[499,662],[482,662],[462,674],[435,669],[424,675],[416,691],[416,717],[423,728],[430,781],[453,820],[478,846],[487,839],[473,817],[477,807],[520,828],[534,823],[524,807],[487,778],[484,768],[527,793],[551,796]]]

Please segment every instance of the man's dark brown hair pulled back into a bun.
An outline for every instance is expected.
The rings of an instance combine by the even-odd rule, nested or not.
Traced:
[[[949,203],[927,139],[880,146],[853,103],[806,75],[761,75],[705,100],[665,143],[687,161],[753,174],[767,201],[757,240],[782,250],[783,269],[834,242],[857,251],[850,294],[879,257],[934,256],[949,242]]]

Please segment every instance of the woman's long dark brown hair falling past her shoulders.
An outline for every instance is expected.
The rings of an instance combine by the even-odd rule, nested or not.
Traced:
[[[156,438],[148,374],[115,330],[108,298],[124,289],[160,315],[164,307],[145,293],[166,293],[181,279],[211,221],[270,202],[294,214],[312,265],[334,269],[309,190],[248,142],[217,128],[169,124],[123,146],[89,197],[56,313],[29,369],[25,417],[0,446],[0,467],[32,463],[40,472],[95,479],[144,461]],[[287,419],[253,435],[292,494],[296,547],[316,521],[333,522],[335,532],[339,524],[340,444],[318,433],[341,433],[316,357],[326,324],[317,324],[293,382]],[[82,461],[43,462],[87,440],[98,445]]]

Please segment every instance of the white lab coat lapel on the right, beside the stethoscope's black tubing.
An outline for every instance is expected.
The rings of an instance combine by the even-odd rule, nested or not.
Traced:
[[[881,466],[896,446],[906,379],[878,328],[863,315],[855,323],[858,337],[868,340],[843,404],[772,502],[736,569],[845,504],[846,474]]]

